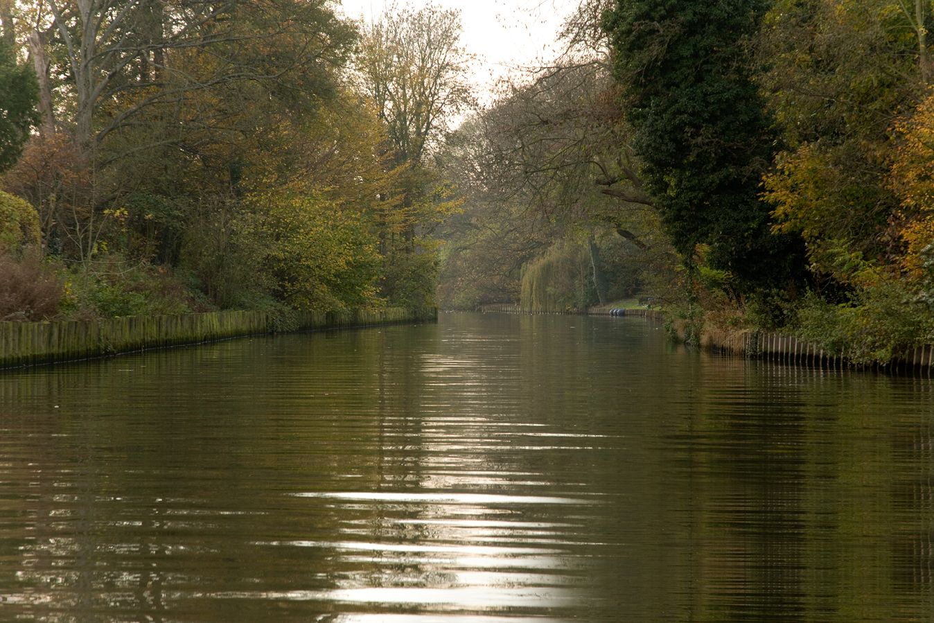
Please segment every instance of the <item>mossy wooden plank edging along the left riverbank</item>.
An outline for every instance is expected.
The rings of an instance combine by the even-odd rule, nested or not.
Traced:
[[[352,329],[437,321],[435,307],[297,312],[284,333]],[[23,368],[121,355],[151,348],[205,344],[274,331],[264,311],[219,311],[174,316],[127,316],[103,320],[0,322],[0,369]]]

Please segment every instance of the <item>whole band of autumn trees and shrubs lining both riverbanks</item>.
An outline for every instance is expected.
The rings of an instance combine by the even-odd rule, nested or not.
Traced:
[[[647,295],[699,341],[934,342],[930,2],[580,0],[482,107],[458,20],[0,2],[0,315]]]

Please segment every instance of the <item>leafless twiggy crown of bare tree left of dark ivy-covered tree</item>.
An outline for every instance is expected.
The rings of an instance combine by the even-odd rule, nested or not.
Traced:
[[[556,64],[480,117],[478,167],[503,198],[521,195],[549,219],[621,222],[652,202],[600,63]],[[612,198],[612,201],[607,201]]]

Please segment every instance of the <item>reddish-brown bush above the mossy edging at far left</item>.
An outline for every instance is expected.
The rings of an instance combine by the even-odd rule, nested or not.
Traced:
[[[36,249],[21,259],[0,255],[0,320],[45,320],[58,313],[64,287]]]

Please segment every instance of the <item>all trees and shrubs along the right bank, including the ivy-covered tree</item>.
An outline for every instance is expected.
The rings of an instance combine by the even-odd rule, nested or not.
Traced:
[[[460,128],[446,304],[633,292],[688,339],[782,331],[857,363],[934,343],[925,0],[591,0]],[[502,242],[505,240],[505,242]]]

